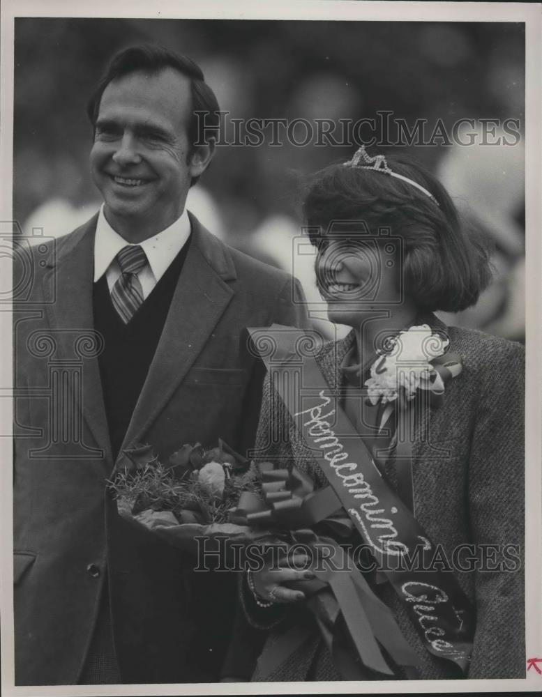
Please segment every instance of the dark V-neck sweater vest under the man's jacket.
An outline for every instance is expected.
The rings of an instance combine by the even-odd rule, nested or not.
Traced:
[[[128,324],[114,309],[105,274],[94,284],[94,328],[104,339],[98,362],[114,459],[162,335],[190,240],[191,236]]]

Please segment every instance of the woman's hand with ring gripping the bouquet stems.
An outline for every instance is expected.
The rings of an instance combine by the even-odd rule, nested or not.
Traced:
[[[303,581],[312,581],[315,574],[309,569],[300,570],[299,567],[307,566],[308,558],[305,555],[296,555],[292,558],[284,558],[278,565],[269,560],[261,571],[252,572],[254,590],[257,597],[273,603],[297,603],[305,599],[303,590],[289,588],[289,584],[299,586]]]

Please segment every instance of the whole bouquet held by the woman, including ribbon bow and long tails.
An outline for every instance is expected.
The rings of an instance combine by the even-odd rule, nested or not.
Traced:
[[[197,553],[197,538],[228,544],[254,544],[263,556],[303,544],[314,552],[315,580],[305,582],[306,604],[345,679],[359,678],[359,664],[391,674],[380,646],[400,665],[414,657],[391,611],[375,597],[340,542],[352,535],[352,521],[331,487],[316,489],[313,480],[294,466],[257,466],[223,441],[204,450],[200,443],[183,445],[160,463],[150,445],[123,451],[110,481],[123,518],[160,535],[174,546]],[[225,540],[220,546],[219,538]],[[340,570],[319,564],[322,545],[339,558]],[[283,554],[280,551],[280,554]],[[295,585],[295,584],[294,584]],[[311,588],[307,588],[310,585]],[[262,655],[270,674],[292,654],[303,633],[285,631],[271,652]],[[352,651],[353,649],[353,651]]]

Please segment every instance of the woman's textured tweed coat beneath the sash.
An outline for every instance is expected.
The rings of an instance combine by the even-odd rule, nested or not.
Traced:
[[[446,332],[449,351],[458,353],[462,359],[462,372],[446,386],[444,404],[428,408],[415,425],[412,451],[415,516],[432,542],[442,545],[449,560],[461,544],[513,545],[518,550],[518,559],[512,567],[519,568],[513,572],[456,570],[454,573],[476,608],[474,649],[467,677],[525,677],[524,348],[482,332],[447,328],[432,314],[423,321],[434,330]],[[354,342],[354,332],[350,332],[339,342],[324,344],[316,356],[336,396],[343,385],[342,359]],[[281,444],[275,447],[267,445],[271,423],[276,429],[274,442]],[[449,451],[449,457],[439,457],[435,446]],[[259,457],[293,459],[319,485],[326,483],[269,381],[264,389],[257,447],[262,448]],[[386,463],[384,476],[396,491],[393,461]],[[502,554],[497,558],[502,560]],[[392,609],[402,634],[418,655],[422,679],[461,677],[455,666],[432,656],[424,648],[421,636],[390,583],[377,585],[375,592]],[[288,625],[288,614],[292,612],[286,609],[283,623],[269,631],[268,644],[276,641]],[[306,680],[308,675],[309,680],[341,679],[317,629],[267,679]],[[368,675],[367,679],[375,679],[375,675]],[[258,668],[252,680],[261,680]]]

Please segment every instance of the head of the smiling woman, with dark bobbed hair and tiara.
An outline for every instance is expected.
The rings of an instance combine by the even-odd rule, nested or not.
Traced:
[[[487,250],[439,181],[412,161],[386,171],[379,158],[362,147],[356,165],[319,171],[303,206],[329,319],[360,340],[363,329],[368,357],[382,326],[398,332],[421,312],[465,309],[491,278]]]

